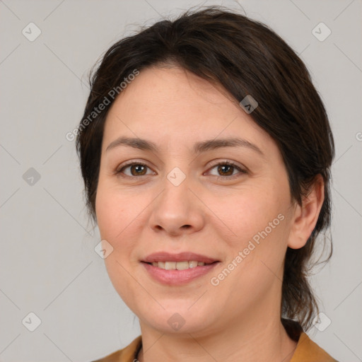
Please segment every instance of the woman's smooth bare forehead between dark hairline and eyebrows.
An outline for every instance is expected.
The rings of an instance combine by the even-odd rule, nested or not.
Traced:
[[[108,112],[104,147],[117,136],[156,144],[231,136],[261,147],[274,142],[222,86],[180,67],[144,69],[124,88]]]

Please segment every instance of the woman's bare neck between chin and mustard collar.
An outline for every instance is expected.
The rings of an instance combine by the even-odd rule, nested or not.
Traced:
[[[283,361],[289,362],[296,349],[281,321],[235,322],[213,333],[160,333],[140,322],[142,349],[139,362],[187,361]]]

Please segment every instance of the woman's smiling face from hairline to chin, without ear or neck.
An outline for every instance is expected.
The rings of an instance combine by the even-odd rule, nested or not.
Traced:
[[[280,313],[286,168],[221,88],[142,70],[107,115],[95,209],[107,272],[141,327],[202,335]]]

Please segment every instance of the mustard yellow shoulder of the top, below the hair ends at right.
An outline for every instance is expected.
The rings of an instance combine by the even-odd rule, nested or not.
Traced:
[[[320,348],[305,332],[300,333],[296,351],[291,362],[338,362],[327,352]]]

